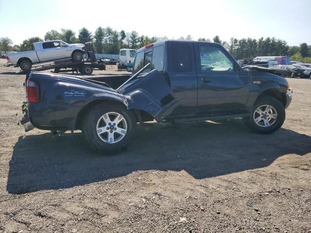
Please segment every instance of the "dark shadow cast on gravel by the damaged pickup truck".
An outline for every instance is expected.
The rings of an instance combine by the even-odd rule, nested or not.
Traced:
[[[311,152],[311,137],[280,129],[249,132],[241,120],[138,126],[131,146],[102,155],[86,146],[81,133],[20,136],[10,161],[7,191],[22,194],[69,188],[125,176],[137,170],[185,170],[196,179],[270,165],[285,154]]]

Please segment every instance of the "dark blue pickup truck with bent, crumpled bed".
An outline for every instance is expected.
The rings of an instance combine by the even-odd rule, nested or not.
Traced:
[[[82,130],[101,152],[119,151],[137,122],[243,118],[256,133],[272,133],[292,100],[287,80],[264,67],[242,68],[223,46],[160,41],[137,51],[133,76],[26,76],[26,131]]]

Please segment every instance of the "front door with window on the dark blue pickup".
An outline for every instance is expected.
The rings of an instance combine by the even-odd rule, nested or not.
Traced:
[[[249,77],[221,46],[195,43],[197,111],[234,114],[249,97]],[[212,113],[214,114],[214,113]]]

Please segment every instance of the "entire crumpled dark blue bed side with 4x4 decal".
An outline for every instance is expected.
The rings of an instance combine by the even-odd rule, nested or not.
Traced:
[[[131,80],[120,90],[69,75],[32,72],[27,79],[40,83],[40,101],[29,103],[28,110],[32,124],[43,130],[77,129],[76,120],[81,112],[101,100],[144,111],[157,121],[165,119],[180,105],[178,99],[173,99],[164,77],[155,69]]]

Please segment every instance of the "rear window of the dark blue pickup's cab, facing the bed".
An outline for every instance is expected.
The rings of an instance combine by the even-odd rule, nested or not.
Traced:
[[[136,54],[134,73],[139,69],[151,63],[151,67],[148,67],[145,72],[149,72],[153,69],[157,71],[163,71],[164,69],[164,45],[155,46],[152,49],[140,51]]]

